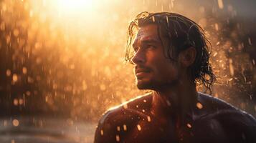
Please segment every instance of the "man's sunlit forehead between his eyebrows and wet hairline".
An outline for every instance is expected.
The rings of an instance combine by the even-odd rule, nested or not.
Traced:
[[[136,35],[134,43],[149,39],[154,39],[156,41],[158,40],[158,31],[156,24],[148,24],[138,29],[138,33]]]

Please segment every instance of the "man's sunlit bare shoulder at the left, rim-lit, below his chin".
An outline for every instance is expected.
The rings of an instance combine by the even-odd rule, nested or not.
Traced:
[[[151,99],[151,94],[145,94],[105,112],[95,131],[95,143],[116,142],[129,134],[142,118],[146,118]]]

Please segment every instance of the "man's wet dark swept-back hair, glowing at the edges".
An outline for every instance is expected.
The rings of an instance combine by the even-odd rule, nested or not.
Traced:
[[[209,64],[211,54],[211,43],[207,40],[205,32],[199,24],[180,14],[159,12],[149,13],[147,11],[138,14],[128,26],[128,39],[125,49],[125,61],[132,63],[134,52],[131,50],[133,39],[138,29],[148,24],[156,24],[158,37],[163,45],[163,37],[168,40],[168,45],[163,45],[166,58],[177,61],[179,53],[193,46],[196,49],[196,59],[189,66],[191,79],[195,83],[203,84],[212,93],[212,84],[216,77]]]

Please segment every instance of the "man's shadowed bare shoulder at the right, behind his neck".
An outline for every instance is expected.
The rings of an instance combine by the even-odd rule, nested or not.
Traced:
[[[204,134],[204,137],[222,139],[222,142],[256,142],[256,120],[252,115],[244,112],[231,104],[200,95],[199,99],[205,105],[208,112],[196,119],[194,122],[197,134]]]

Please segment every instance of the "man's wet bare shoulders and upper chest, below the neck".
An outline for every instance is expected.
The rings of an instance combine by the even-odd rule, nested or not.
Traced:
[[[214,97],[198,95],[184,121],[152,114],[153,94],[106,112],[95,132],[98,142],[255,142],[255,119]],[[173,112],[176,112],[175,110]]]

